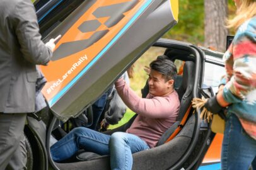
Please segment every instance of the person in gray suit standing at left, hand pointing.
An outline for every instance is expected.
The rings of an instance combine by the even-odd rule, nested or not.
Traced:
[[[1,0],[0,23],[0,169],[26,169],[23,128],[35,111],[36,65],[47,65],[55,43],[42,42],[30,0]]]

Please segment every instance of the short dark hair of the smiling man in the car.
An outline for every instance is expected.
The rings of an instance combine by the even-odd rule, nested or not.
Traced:
[[[177,77],[177,67],[166,55],[158,56],[156,60],[153,60],[153,62],[149,64],[149,66],[154,71],[163,74],[165,81],[170,79],[175,80]]]

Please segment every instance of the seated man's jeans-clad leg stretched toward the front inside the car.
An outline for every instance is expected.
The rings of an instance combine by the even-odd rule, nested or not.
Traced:
[[[61,162],[74,156],[79,149],[108,155],[110,135],[105,135],[90,128],[74,128],[65,137],[50,147],[52,159]]]

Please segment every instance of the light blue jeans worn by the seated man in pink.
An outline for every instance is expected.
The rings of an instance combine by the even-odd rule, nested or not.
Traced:
[[[115,132],[111,136],[85,127],[74,128],[50,147],[52,159],[61,162],[73,157],[79,149],[100,155],[110,154],[111,169],[132,169],[132,154],[149,149],[136,135]]]

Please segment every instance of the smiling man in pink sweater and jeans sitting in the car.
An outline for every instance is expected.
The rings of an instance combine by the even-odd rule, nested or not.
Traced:
[[[156,146],[161,135],[177,119],[180,101],[173,88],[177,69],[168,59],[157,59],[150,64],[149,94],[140,98],[121,77],[115,82],[120,98],[137,117],[126,132],[106,135],[94,130],[74,128],[52,145],[50,152],[56,162],[64,161],[79,149],[100,155],[110,154],[111,169],[132,169],[132,154]]]

